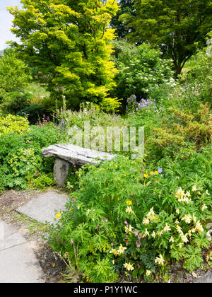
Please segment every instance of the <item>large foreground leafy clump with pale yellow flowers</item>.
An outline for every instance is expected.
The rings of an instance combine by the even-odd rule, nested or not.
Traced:
[[[86,166],[57,228],[49,226],[49,244],[91,282],[149,275],[171,259],[196,269],[209,245],[210,153],[207,148],[179,163],[166,159],[163,169],[147,170],[124,157]]]

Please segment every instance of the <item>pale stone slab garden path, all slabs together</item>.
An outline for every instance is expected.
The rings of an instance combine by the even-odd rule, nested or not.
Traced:
[[[67,199],[66,194],[46,192],[16,211],[41,223],[54,223],[55,212],[65,209]],[[20,230],[0,221],[0,283],[45,282],[33,245],[35,243],[26,240]]]

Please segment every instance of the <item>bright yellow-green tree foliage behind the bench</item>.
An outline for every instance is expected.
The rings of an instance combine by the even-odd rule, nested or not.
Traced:
[[[23,41],[12,45],[35,68],[37,79],[58,98],[66,95],[69,107],[107,97],[116,72],[109,24],[117,1],[22,2],[24,9],[8,8],[14,16],[12,32]]]

